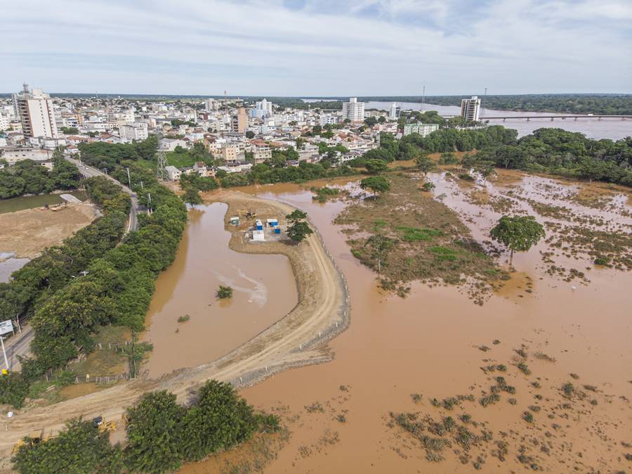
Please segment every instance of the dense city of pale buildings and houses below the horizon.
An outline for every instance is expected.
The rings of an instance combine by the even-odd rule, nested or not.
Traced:
[[[48,114],[42,115],[41,123],[31,123],[32,116],[23,113],[24,104],[45,107]],[[363,126],[364,118],[371,116],[384,118]],[[343,103],[342,110],[303,110],[277,107],[265,99],[51,98],[39,89],[30,91],[26,84],[13,99],[0,99],[0,160],[9,165],[24,159],[49,161],[53,150],[62,147],[73,155],[80,143],[129,143],[152,134],[160,137],[161,151],[189,150],[202,143],[222,163],[212,169],[203,162],[169,166],[166,171],[174,181],[183,173],[206,177],[218,170],[244,172],[271,160],[275,149],[296,151],[289,154],[289,166],[326,157],[336,166],[378,146],[381,132],[397,134],[393,110],[365,112],[364,103],[355,99]]]

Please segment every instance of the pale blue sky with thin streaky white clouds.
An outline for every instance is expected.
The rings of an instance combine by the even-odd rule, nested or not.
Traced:
[[[0,91],[632,93],[632,0],[20,0]]]

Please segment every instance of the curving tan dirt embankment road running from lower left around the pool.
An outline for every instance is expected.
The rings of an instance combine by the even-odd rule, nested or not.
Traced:
[[[239,191],[222,191],[207,196],[209,200],[228,204],[228,217],[237,210],[255,210],[260,217],[277,217],[282,228],[286,214],[294,207],[273,200],[256,198]],[[313,227],[313,226],[312,226]],[[84,395],[50,406],[27,406],[5,418],[6,429],[0,431],[0,469],[10,468],[11,448],[21,437],[44,428],[56,433],[69,418],[105,416],[120,421],[126,407],[134,404],[143,393],[169,390],[180,402],[188,402],[190,393],[206,380],[228,381],[236,387],[254,385],[264,378],[292,367],[329,361],[333,354],[327,341],[344,331],[349,324],[346,283],[317,233],[300,245],[287,242],[251,243],[244,236],[247,224],[239,228],[227,226],[232,232],[230,248],[237,252],[286,255],[291,262],[298,288],[298,303],[277,323],[225,356],[192,369],[180,369],[157,380],[139,378],[120,383],[100,392]],[[118,423],[121,439],[123,423]]]

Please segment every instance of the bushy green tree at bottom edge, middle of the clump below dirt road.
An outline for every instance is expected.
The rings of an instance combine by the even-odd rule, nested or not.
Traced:
[[[129,470],[164,473],[177,470],[183,461],[182,420],[185,408],[166,390],[143,395],[127,409],[125,459]]]

